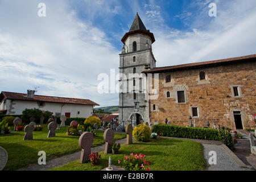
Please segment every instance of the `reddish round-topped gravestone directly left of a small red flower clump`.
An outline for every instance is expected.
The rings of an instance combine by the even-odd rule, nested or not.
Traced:
[[[91,146],[93,144],[93,134],[90,132],[83,133],[79,138],[79,146],[82,148],[80,155],[80,163],[89,161],[89,155],[91,154]]]

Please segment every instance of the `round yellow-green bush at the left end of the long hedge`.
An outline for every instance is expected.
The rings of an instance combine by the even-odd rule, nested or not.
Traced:
[[[141,142],[148,142],[150,140],[151,130],[147,125],[137,125],[133,129],[133,137]]]

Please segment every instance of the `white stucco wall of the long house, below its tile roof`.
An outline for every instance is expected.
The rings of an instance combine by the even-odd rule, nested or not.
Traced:
[[[6,114],[22,114],[22,111],[26,108],[36,108],[43,111],[48,110],[51,111],[53,115],[56,115],[56,113],[61,113],[61,115],[65,115],[65,113],[71,113],[71,118],[87,118],[93,114],[93,106],[91,105],[44,102],[44,106],[39,106],[38,102],[35,101],[6,100],[5,109],[8,110]],[[78,114],[78,111],[80,111],[80,114]]]

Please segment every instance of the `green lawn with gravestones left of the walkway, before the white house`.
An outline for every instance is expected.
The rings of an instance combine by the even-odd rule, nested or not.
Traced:
[[[3,170],[16,170],[27,167],[29,164],[38,163],[39,151],[45,151],[46,160],[51,160],[81,150],[79,137],[66,135],[67,126],[56,130],[56,137],[53,138],[47,138],[48,125],[43,124],[42,126],[44,126],[42,131],[33,131],[33,140],[23,141],[23,131],[0,135],[0,146],[8,152],[8,162]],[[105,143],[103,135],[104,131],[96,131],[92,147]],[[114,140],[125,137],[124,133],[115,133]]]

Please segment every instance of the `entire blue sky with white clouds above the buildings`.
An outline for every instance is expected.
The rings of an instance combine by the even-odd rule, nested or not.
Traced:
[[[118,105],[118,93],[98,93],[97,77],[119,72],[120,40],[137,11],[155,35],[157,67],[256,53],[256,1],[0,0],[0,91],[39,86],[36,94]]]

